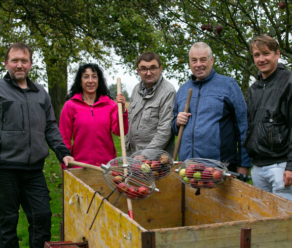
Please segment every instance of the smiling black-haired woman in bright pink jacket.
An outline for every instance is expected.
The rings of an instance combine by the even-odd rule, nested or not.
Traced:
[[[122,103],[124,133],[128,133],[126,100],[122,93],[117,95],[116,102],[109,96],[103,71],[97,64],[79,67],[66,100],[59,128],[75,160],[98,166],[117,157],[112,133],[120,136],[117,102]]]

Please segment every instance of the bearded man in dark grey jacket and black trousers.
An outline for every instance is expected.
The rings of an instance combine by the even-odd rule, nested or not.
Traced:
[[[48,146],[59,161],[74,160],[63,143],[49,94],[28,77],[32,51],[24,43],[5,54],[0,79],[0,247],[19,247],[18,211],[29,223],[29,247],[51,238],[50,196],[43,173]]]

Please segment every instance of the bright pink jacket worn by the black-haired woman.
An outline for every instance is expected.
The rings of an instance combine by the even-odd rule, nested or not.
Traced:
[[[128,111],[123,114],[123,122],[126,135]],[[117,157],[112,132],[120,136],[118,105],[108,96],[100,96],[98,102],[89,106],[82,100],[81,93],[76,94],[64,104],[59,129],[65,145],[78,162],[106,164]],[[63,163],[61,167],[66,169]]]

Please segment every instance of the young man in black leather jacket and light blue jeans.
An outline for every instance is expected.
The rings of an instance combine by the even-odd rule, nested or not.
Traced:
[[[292,72],[278,63],[278,43],[268,35],[255,38],[250,52],[260,70],[248,91],[244,140],[252,183],[292,200]]]

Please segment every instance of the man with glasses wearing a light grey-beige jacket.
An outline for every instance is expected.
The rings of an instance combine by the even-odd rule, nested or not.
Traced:
[[[157,54],[141,54],[136,65],[141,81],[133,89],[130,99],[127,156],[145,148],[162,149],[172,156],[175,89],[162,76],[161,60]]]

